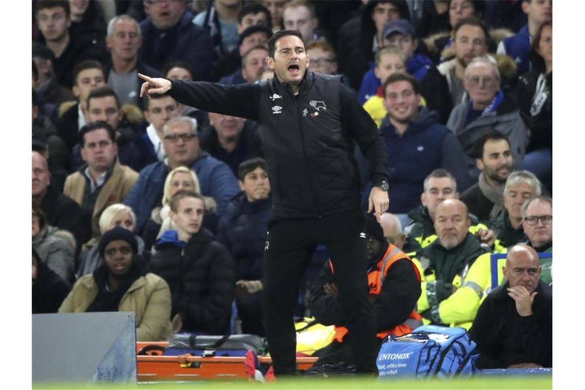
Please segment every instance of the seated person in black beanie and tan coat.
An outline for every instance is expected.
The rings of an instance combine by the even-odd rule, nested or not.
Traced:
[[[104,233],[98,248],[103,263],[77,279],[59,313],[134,312],[136,341],[170,339],[170,290],[162,278],[145,272],[132,232],[116,226]]]

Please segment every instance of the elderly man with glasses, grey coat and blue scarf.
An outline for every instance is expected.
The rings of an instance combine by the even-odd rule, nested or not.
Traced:
[[[447,127],[455,133],[467,154],[472,180],[480,174],[475,164],[475,144],[487,132],[497,130],[510,142],[514,168],[522,167],[528,131],[517,105],[500,90],[500,72],[487,57],[477,57],[465,68],[463,85],[469,101],[459,103],[449,116]]]

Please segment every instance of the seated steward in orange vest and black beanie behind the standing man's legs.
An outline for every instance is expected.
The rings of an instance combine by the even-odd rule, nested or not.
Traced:
[[[414,263],[404,252],[388,244],[376,218],[366,215],[366,242],[368,286],[374,303],[374,317],[378,347],[388,334],[401,336],[422,325],[414,308],[421,295],[421,277]],[[355,365],[349,343],[345,315],[339,303],[335,284],[335,270],[331,260],[326,261],[318,282],[311,291],[311,313],[323,325],[335,325],[333,343],[316,351],[319,360],[308,372],[352,370]],[[335,366],[335,367],[333,367]]]

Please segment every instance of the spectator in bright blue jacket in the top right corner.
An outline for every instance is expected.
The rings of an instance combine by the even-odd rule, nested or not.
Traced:
[[[524,0],[522,11],[528,23],[514,36],[508,37],[498,46],[498,54],[507,54],[518,65],[517,76],[529,70],[530,43],[544,22],[552,22],[552,0]]]

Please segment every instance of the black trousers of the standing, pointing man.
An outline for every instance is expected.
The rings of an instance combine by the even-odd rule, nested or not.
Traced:
[[[298,288],[317,244],[331,254],[335,283],[352,334],[356,372],[377,372],[373,307],[368,299],[366,239],[359,210],[322,218],[275,219],[264,251],[264,325],[274,374],[297,371],[292,321]]]

